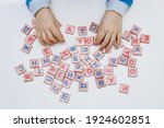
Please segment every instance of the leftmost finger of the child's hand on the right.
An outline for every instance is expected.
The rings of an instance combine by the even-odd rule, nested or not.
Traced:
[[[95,38],[95,45],[98,45],[103,42],[104,37],[106,35],[106,32],[104,30],[99,30],[97,35],[96,35],[96,38]]]

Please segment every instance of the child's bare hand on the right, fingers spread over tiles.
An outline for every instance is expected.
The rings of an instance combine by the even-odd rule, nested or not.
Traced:
[[[95,38],[95,45],[99,45],[99,50],[105,49],[106,53],[110,50],[113,45],[116,47],[121,42],[121,23],[122,18],[114,11],[106,11]]]

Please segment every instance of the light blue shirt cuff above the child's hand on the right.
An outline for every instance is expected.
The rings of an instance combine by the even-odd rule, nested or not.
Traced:
[[[109,0],[106,3],[106,10],[112,10],[119,13],[121,16],[128,11],[129,7],[119,0]]]

